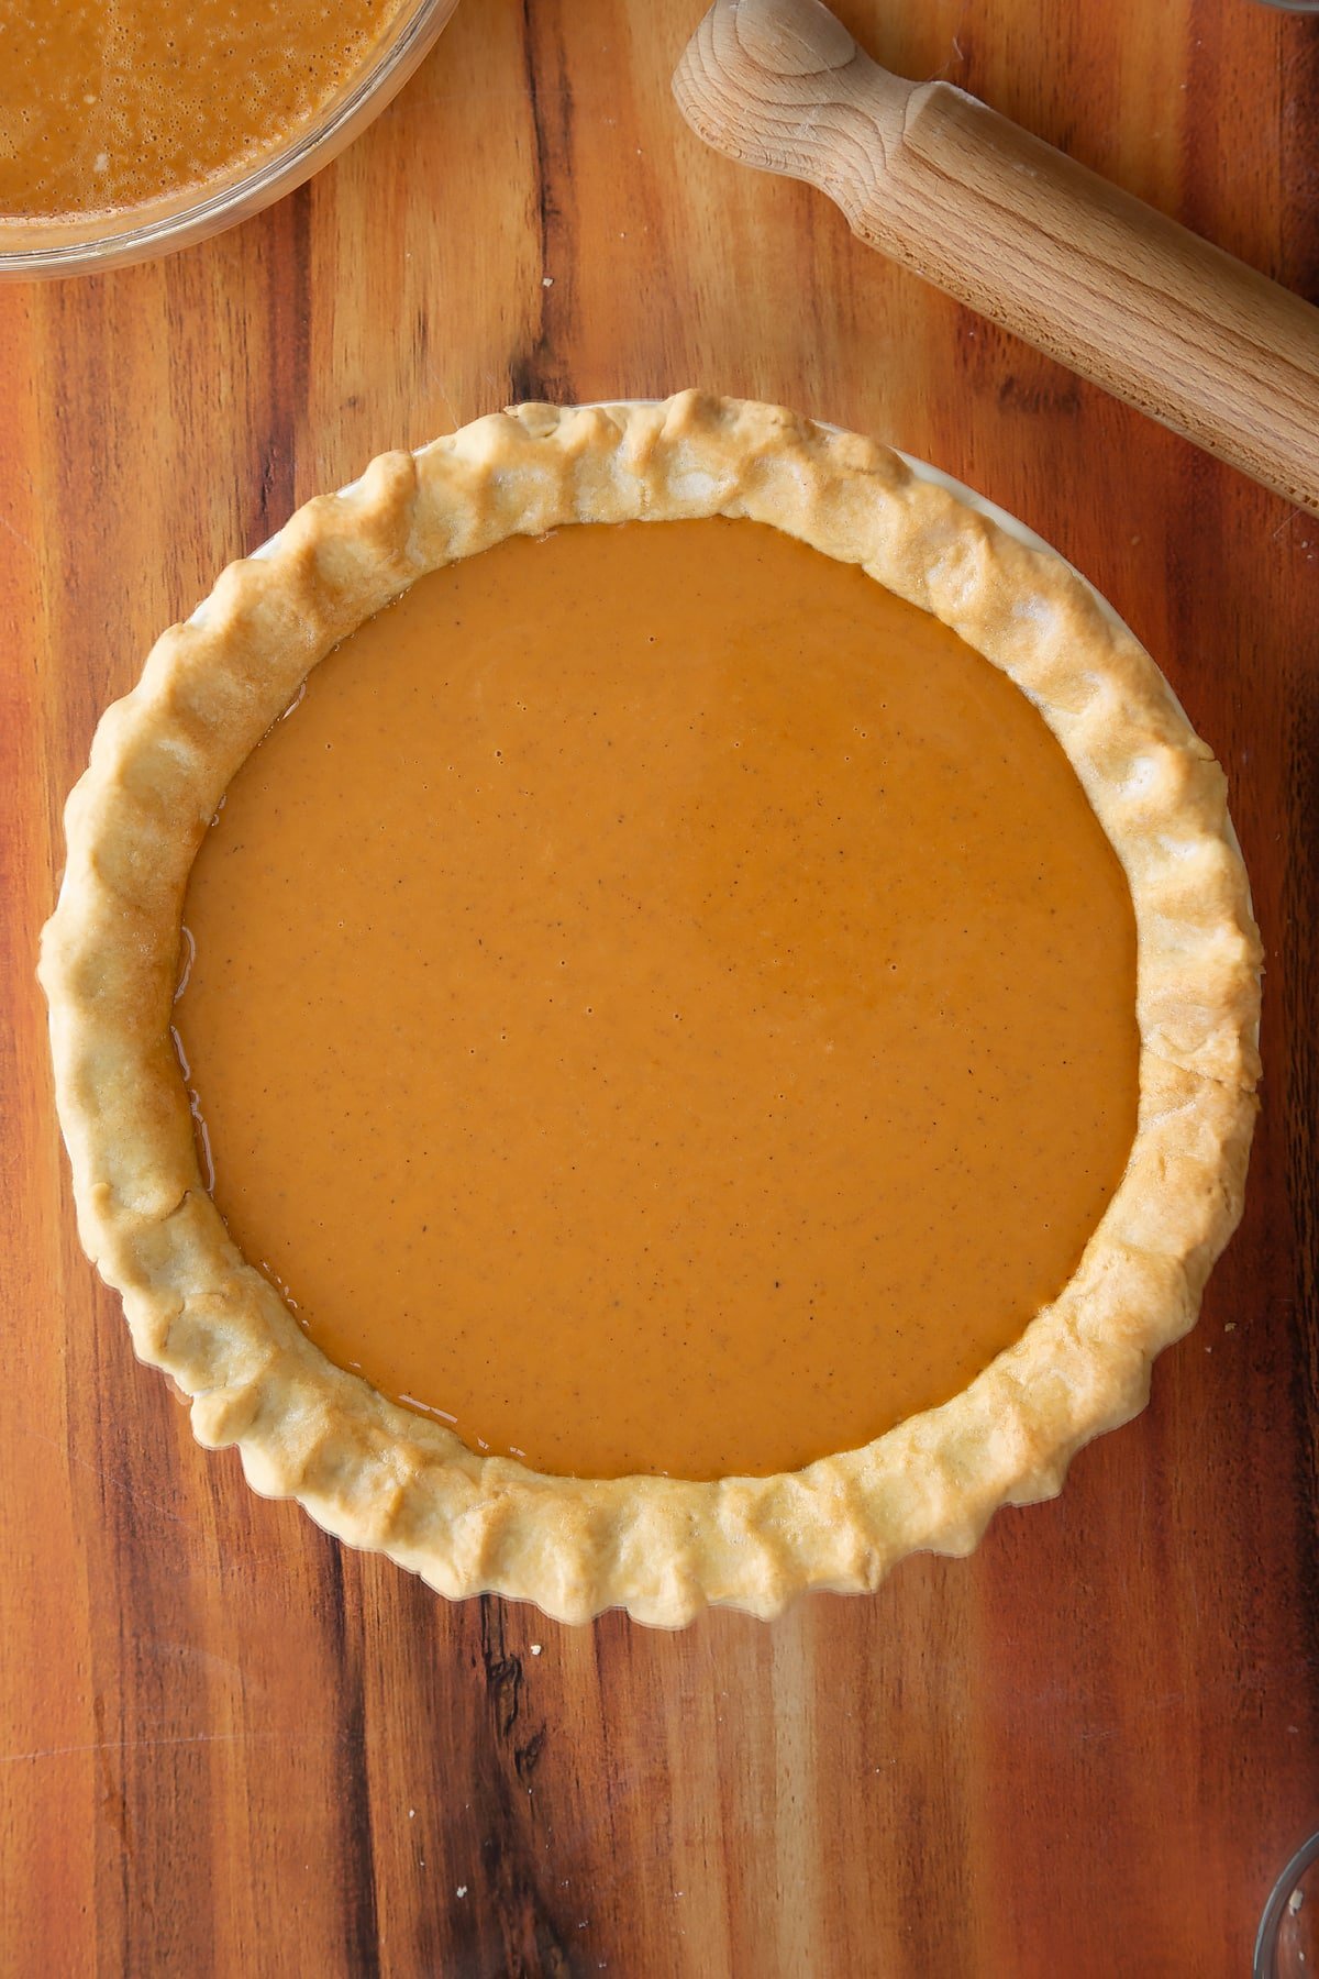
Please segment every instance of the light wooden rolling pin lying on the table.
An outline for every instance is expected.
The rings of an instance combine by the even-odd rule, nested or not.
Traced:
[[[888,75],[817,0],[716,0],[672,87],[716,150],[1319,515],[1319,309],[965,91]]]

